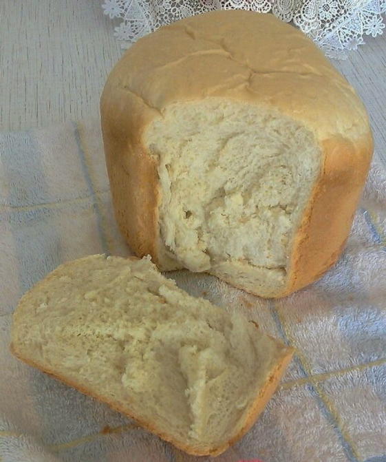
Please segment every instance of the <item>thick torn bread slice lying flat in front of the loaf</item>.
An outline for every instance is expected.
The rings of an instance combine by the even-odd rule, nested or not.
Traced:
[[[196,455],[242,437],[292,357],[147,258],[104,255],[59,266],[22,297],[11,349]]]

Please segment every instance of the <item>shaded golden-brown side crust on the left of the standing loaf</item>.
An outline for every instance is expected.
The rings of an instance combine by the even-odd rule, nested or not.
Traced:
[[[152,255],[158,263],[157,167],[140,143],[140,127],[134,125],[133,120],[124,122],[126,105],[120,104],[124,97],[117,90],[108,103],[102,101],[101,104],[101,112],[105,114],[103,141],[116,220],[136,255]],[[131,102],[133,111],[136,104],[134,99]],[[117,155],[119,153],[125,156]]]

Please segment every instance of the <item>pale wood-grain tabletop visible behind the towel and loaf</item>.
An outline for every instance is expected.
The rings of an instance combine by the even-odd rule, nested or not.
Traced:
[[[0,0],[0,129],[98,115],[100,92],[122,54],[102,0]],[[386,34],[334,64],[363,97],[386,150]],[[333,114],[332,114],[333,116]]]

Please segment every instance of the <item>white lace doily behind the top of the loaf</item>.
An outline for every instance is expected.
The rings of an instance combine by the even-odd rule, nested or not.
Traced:
[[[193,14],[239,8],[292,21],[328,56],[344,59],[364,36],[382,34],[386,0],[104,0],[102,8],[111,19],[122,19],[114,35],[123,46]]]

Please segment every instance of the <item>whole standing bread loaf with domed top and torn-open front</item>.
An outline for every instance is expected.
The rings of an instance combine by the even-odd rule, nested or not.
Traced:
[[[240,10],[161,28],[114,67],[101,116],[116,218],[138,256],[263,297],[339,258],[372,134],[299,30]]]

